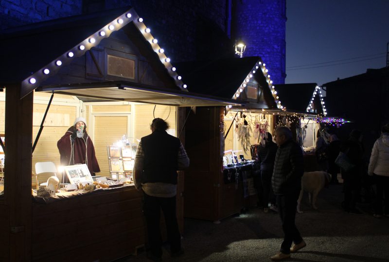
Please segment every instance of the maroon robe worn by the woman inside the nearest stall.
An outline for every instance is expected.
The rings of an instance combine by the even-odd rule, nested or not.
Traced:
[[[85,131],[84,137],[78,138],[76,136],[73,141],[71,141],[73,131],[75,131],[75,128],[70,127],[57,142],[57,147],[61,156],[61,164],[87,164],[89,172],[93,176],[94,173],[100,172],[100,167],[97,163],[92,140],[90,140],[87,131]],[[86,148],[88,148],[87,152],[85,152]],[[71,157],[72,152],[73,156]]]

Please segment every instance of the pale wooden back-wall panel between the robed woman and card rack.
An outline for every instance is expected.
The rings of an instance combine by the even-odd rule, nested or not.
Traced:
[[[93,107],[94,109],[96,107]],[[94,141],[96,158],[100,166],[100,176],[109,177],[107,146],[113,145],[127,133],[127,116],[95,116],[94,118]]]

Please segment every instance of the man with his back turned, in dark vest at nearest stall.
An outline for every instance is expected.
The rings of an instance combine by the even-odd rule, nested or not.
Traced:
[[[134,183],[143,192],[146,217],[148,257],[161,261],[160,210],[165,217],[172,257],[183,253],[176,216],[177,170],[189,166],[189,158],[177,137],[169,135],[169,125],[161,118],[151,123],[150,135],[141,138],[134,163]]]

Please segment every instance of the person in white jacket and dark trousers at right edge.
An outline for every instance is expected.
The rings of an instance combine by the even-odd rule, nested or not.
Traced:
[[[382,136],[378,138],[371,150],[368,175],[376,175],[377,199],[374,217],[383,213],[389,216],[389,123],[382,127]],[[382,200],[385,193],[385,211],[382,212]]]

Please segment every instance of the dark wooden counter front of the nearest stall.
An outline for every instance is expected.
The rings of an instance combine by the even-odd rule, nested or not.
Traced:
[[[125,187],[34,203],[32,238],[33,261],[104,262],[130,255],[145,242],[141,194]]]

